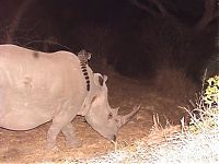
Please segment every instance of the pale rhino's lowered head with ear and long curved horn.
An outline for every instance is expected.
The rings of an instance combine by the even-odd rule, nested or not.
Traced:
[[[96,79],[100,78],[102,78],[102,82],[94,80],[96,83],[100,83],[100,90],[92,97],[90,109],[84,117],[91,127],[100,134],[110,141],[115,141],[118,129],[135,116],[139,110],[140,105],[136,106],[131,113],[125,116],[118,115],[118,108],[112,108],[108,104],[106,86],[107,77],[102,77],[101,74],[96,75]]]

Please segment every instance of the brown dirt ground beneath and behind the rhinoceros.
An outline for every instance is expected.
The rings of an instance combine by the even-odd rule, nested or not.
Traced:
[[[159,114],[163,125],[165,119],[176,125],[184,116],[185,112],[177,106],[188,104],[188,91],[194,87],[187,84],[177,84],[174,87],[169,81],[161,81],[162,78],[157,78],[155,81],[138,81],[118,74],[108,77],[108,98],[112,107],[119,106],[119,113],[127,114],[135,105],[141,104],[139,113],[119,130],[117,136],[119,145],[126,147],[148,136],[153,125],[153,114]],[[161,83],[168,85],[165,90]],[[45,149],[50,122],[28,131],[10,131],[0,128],[0,163],[61,163],[69,157],[92,157],[114,151],[114,144],[101,137],[83,120],[80,116],[72,120],[78,138],[83,140],[83,145],[78,149],[67,149],[64,136],[60,133],[57,138],[59,147],[57,152]]]

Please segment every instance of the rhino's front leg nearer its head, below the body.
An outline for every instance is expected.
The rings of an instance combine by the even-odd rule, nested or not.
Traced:
[[[66,138],[66,144],[68,148],[79,148],[82,145],[82,141],[77,139],[76,137],[76,132],[74,129],[71,125],[71,122],[69,122],[67,126],[65,126],[61,129],[61,132],[64,133],[65,138]]]

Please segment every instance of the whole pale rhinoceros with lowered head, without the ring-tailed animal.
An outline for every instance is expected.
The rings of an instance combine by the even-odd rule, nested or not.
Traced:
[[[87,69],[87,77],[81,69]],[[69,51],[42,52],[16,45],[0,45],[0,127],[30,130],[51,121],[47,148],[55,149],[61,131],[68,147],[81,145],[71,120],[84,116],[101,136],[115,141],[118,129],[139,110],[125,116],[107,99],[106,75],[81,68]],[[58,149],[58,148],[57,148]]]

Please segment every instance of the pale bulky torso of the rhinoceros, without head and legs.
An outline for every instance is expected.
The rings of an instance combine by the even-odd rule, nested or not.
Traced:
[[[66,102],[77,113],[84,96],[84,78],[73,54],[0,46],[0,127],[35,128],[61,112]]]

